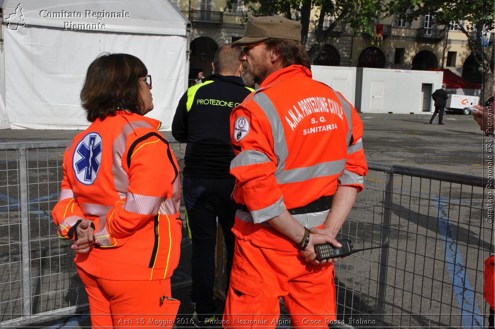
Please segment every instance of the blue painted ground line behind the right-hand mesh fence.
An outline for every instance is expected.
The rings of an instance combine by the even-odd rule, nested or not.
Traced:
[[[435,204],[440,234],[445,238],[445,258],[452,279],[453,293],[459,308],[462,310],[462,326],[464,328],[483,328],[483,317],[480,315],[480,309],[474,299],[473,288],[466,275],[466,267],[462,262],[462,257],[457,251],[454,232],[447,217],[447,202],[444,198],[439,198]]]

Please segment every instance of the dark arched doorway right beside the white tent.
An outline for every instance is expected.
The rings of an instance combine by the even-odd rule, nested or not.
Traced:
[[[211,62],[218,46],[211,38],[199,37],[191,41],[190,49],[189,85],[195,83],[194,79],[198,77],[199,72],[203,72],[204,76],[213,72]]]

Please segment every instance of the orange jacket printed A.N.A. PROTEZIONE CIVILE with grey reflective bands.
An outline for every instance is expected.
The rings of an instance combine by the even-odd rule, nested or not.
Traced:
[[[339,185],[363,188],[368,167],[362,122],[342,95],[291,65],[268,76],[231,114],[236,202],[244,222],[265,223],[285,209],[333,195]],[[316,227],[326,217],[301,222]],[[304,219],[304,220],[306,220]],[[266,226],[265,226],[266,227]]]

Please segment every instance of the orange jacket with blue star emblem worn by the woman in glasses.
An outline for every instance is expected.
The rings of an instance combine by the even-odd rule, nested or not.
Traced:
[[[94,220],[96,247],[76,254],[88,274],[111,280],[170,277],[180,253],[179,165],[160,122],[119,110],[97,119],[67,146],[58,235],[78,219]]]

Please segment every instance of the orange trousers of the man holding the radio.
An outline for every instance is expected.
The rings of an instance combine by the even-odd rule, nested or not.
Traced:
[[[313,265],[298,251],[236,239],[224,328],[275,328],[282,298],[292,328],[325,328],[336,319],[334,266]]]

